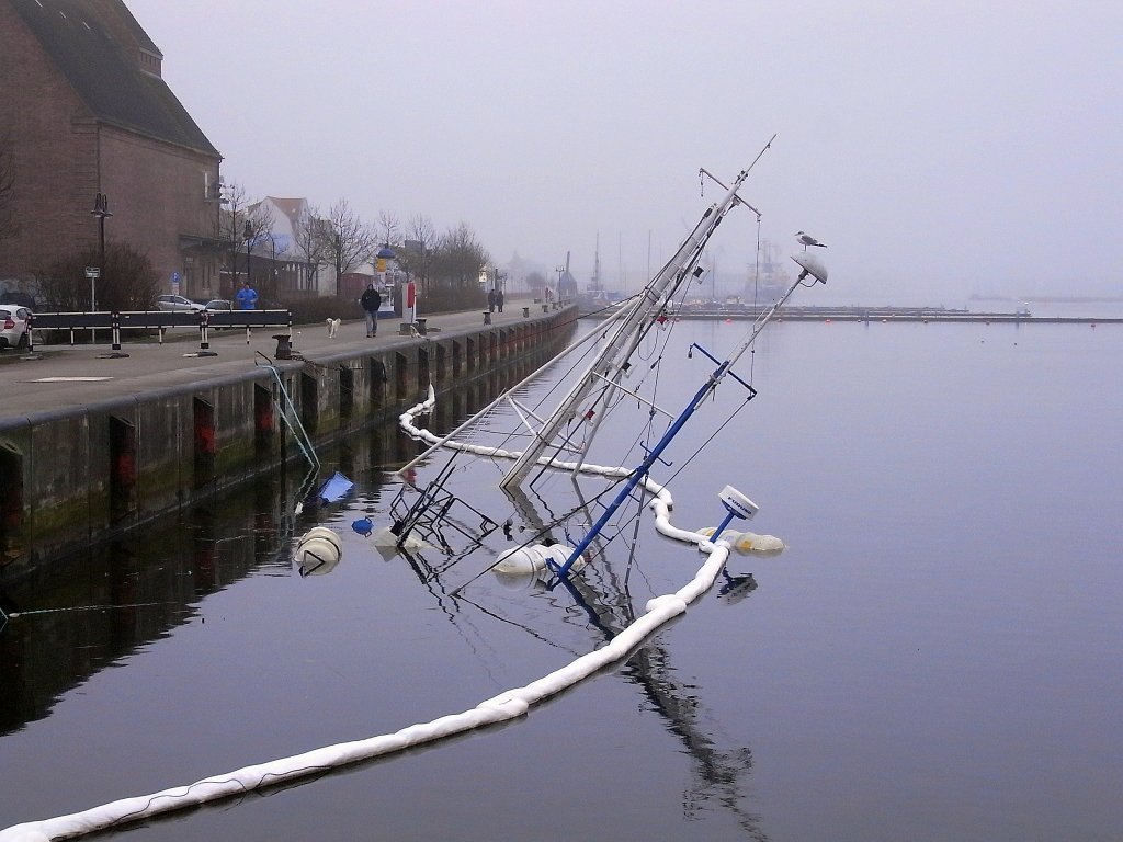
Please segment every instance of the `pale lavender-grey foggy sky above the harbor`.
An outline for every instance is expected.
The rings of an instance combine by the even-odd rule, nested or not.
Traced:
[[[1123,294],[1123,4],[126,0],[252,198],[468,223],[636,285],[723,181],[831,292]],[[728,181],[727,181],[728,183]],[[711,258],[748,272],[757,220]],[[649,248],[650,242],[650,248]]]

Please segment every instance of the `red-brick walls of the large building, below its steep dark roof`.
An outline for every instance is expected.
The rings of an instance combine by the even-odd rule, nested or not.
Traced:
[[[90,211],[102,192],[113,214],[106,220],[107,241],[147,251],[161,291],[179,272],[183,294],[210,294],[212,257],[197,254],[186,267],[180,238],[213,235],[216,205],[204,201],[203,174],[214,184],[219,158],[97,123],[19,15],[0,0],[0,137],[4,129],[21,230],[0,241],[0,277],[27,277],[97,244],[98,219]]]

